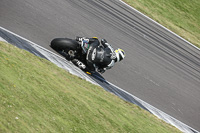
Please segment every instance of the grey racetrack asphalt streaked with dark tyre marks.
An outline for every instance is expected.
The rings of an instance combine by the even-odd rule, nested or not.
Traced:
[[[97,36],[126,52],[103,74],[200,131],[200,51],[117,0],[1,0],[0,26],[51,51],[56,37]]]

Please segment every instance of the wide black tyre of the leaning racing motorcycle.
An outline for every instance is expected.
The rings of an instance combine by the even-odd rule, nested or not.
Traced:
[[[76,50],[79,47],[79,44],[76,40],[69,38],[55,38],[51,41],[51,48],[54,50],[66,50],[72,49]]]

